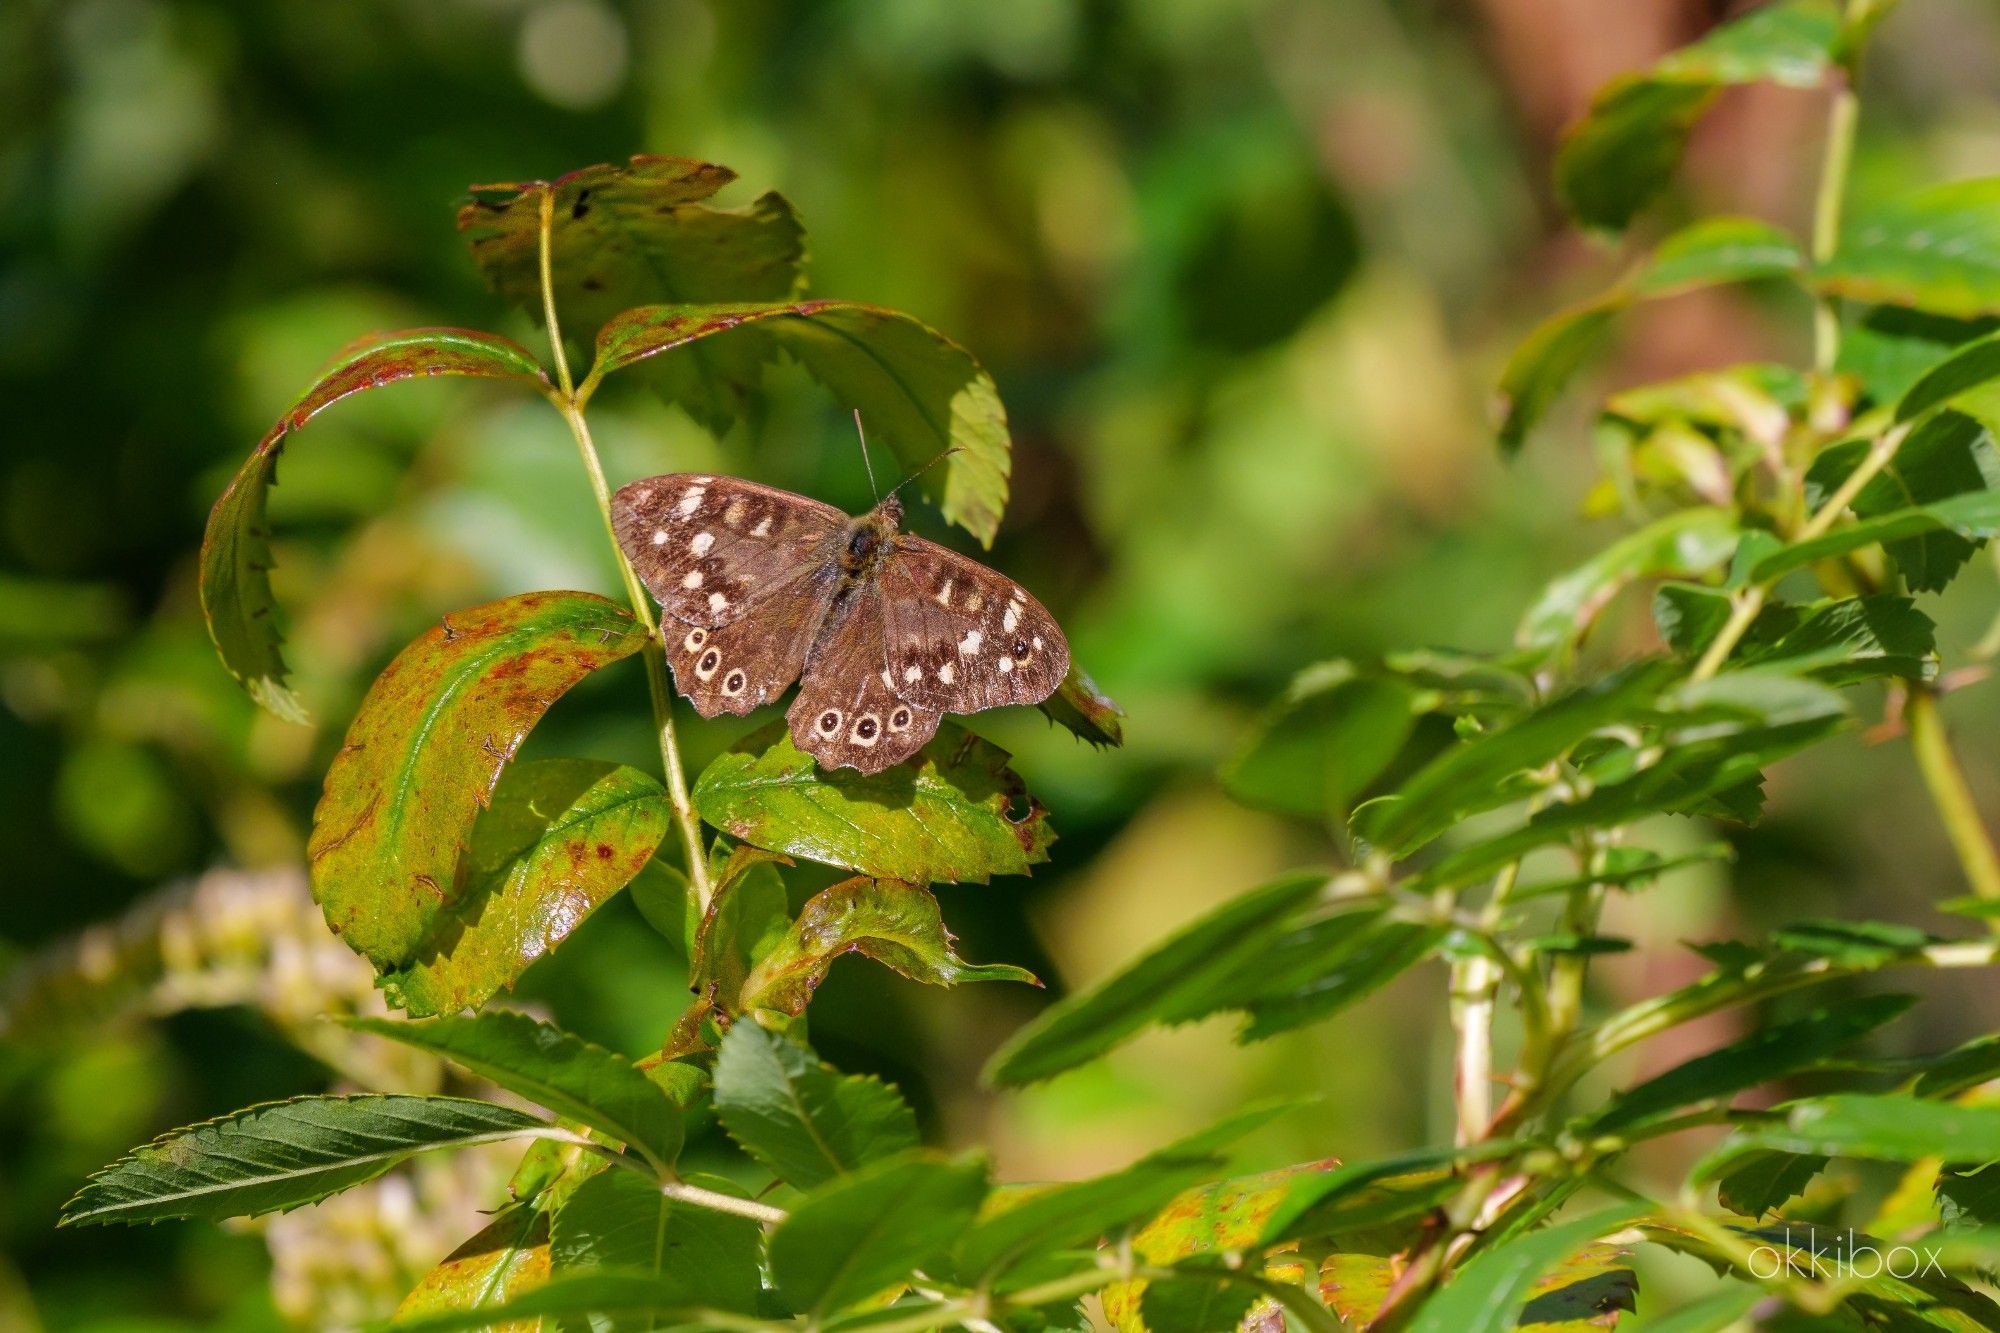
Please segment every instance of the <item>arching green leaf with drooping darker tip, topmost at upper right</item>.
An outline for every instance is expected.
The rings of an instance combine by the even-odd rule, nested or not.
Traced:
[[[1644,74],[1612,80],[1564,136],[1556,196],[1584,226],[1624,230],[1666,188],[1720,88],[1814,88],[1840,38],[1840,8],[1830,0],[1782,0],[1710,30]]]

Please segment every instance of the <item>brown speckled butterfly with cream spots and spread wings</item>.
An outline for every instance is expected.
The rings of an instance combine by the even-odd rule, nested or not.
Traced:
[[[666,616],[674,685],[702,717],[800,681],[786,721],[826,769],[880,773],[946,713],[1048,699],[1070,671],[1056,618],[1012,578],[902,532],[894,492],[860,516],[736,476],[622,486],[612,528]]]

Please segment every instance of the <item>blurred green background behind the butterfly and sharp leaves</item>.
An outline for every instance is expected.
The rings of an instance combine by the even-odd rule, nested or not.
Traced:
[[[542,346],[452,230],[466,184],[630,152],[726,162],[742,174],[726,202],[794,202],[816,294],[906,308],[992,368],[1016,498],[990,558],[1064,618],[1128,709],[1128,745],[1090,751],[1032,713],[978,719],[1062,841],[1032,881],[940,899],[968,957],[1060,993],[1332,855],[1324,831],[1214,783],[1292,671],[1504,646],[1534,588],[1618,530],[1578,518],[1584,404],[1502,468],[1486,396],[1512,338],[1618,270],[1550,202],[1562,124],[1598,82],[1734,8],[0,4],[0,1327],[378,1315],[498,1199],[504,1159],[228,1233],[52,1231],[86,1171],[170,1125],[440,1077],[314,1023],[370,1003],[370,985],[304,897],[304,831],[368,679],[440,610],[616,590],[562,422],[416,384],[346,402],[294,444],[278,594],[312,729],[258,715],[216,662],[194,550],[228,474],[356,334],[466,324]],[[2000,172],[1996,88],[1990,0],[1904,6],[1870,66],[1856,194]],[[1816,94],[1730,94],[1662,218],[1802,226],[1820,118]],[[1634,320],[1602,380],[1796,356],[1804,338],[1796,302],[1690,296]],[[776,376],[764,424],[722,442],[636,386],[594,416],[614,484],[728,468],[866,504],[848,422],[802,378]],[[1650,644],[1638,600],[1594,652]],[[1948,669],[1972,660],[1992,606],[1990,566],[1932,606]],[[2000,813],[1994,691],[1956,695],[1948,717]],[[646,763],[644,719],[638,669],[606,673],[534,747]],[[742,731],[694,725],[692,759]],[[1732,871],[1622,903],[1610,927],[1658,949],[1602,985],[1670,985],[1694,967],[1676,939],[1806,913],[1942,929],[1928,905],[1960,891],[1954,865],[1906,751],[1876,741],[1780,771]],[[1440,983],[1422,971],[1262,1047],[1222,1025],[1156,1033],[1006,1097],[978,1065],[1046,995],[920,991],[848,961],[812,1029],[822,1055],[898,1081],[936,1141],[990,1143],[1012,1179],[1116,1165],[1252,1097],[1328,1095],[1250,1145],[1246,1165],[1266,1167],[1448,1137]],[[674,949],[620,899],[520,997],[642,1053],[682,987]],[[2000,1025],[2000,999],[1948,987],[1884,1043]]]

